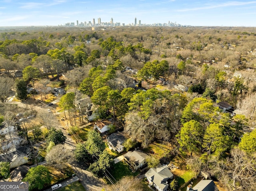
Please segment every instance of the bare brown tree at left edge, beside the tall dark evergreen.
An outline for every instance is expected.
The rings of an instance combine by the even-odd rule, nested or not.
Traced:
[[[4,103],[10,95],[14,80],[9,77],[0,77],[0,100]]]

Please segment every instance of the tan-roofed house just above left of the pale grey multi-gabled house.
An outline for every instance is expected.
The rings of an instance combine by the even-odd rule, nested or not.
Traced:
[[[146,153],[140,150],[129,151],[123,156],[124,159],[129,163],[130,167],[132,167],[134,170],[138,170],[146,165],[146,159],[149,157]]]

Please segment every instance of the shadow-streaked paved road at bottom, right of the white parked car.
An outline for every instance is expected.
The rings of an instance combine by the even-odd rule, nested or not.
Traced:
[[[106,183],[78,165],[72,166],[86,191],[102,191]]]

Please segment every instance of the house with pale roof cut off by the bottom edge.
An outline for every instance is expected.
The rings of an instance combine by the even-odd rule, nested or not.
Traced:
[[[201,180],[194,187],[188,185],[187,191],[218,191],[218,188],[213,180]]]

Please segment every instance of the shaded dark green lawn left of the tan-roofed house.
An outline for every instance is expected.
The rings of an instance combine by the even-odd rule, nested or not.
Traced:
[[[140,172],[136,171],[132,173],[132,170],[129,169],[129,165],[124,161],[120,161],[114,165],[114,169],[111,170],[111,175],[116,179],[116,181],[120,180],[124,176],[136,176]]]

